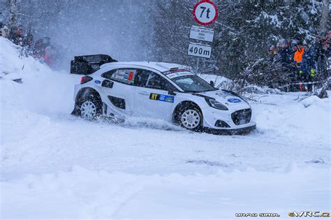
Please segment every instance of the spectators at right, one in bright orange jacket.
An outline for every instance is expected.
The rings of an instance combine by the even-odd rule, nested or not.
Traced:
[[[270,61],[278,65],[284,72],[290,72],[291,90],[298,88],[301,91],[312,91],[318,79],[327,78],[326,63],[331,54],[331,31],[321,31],[315,41],[308,45],[305,41],[282,39],[277,46],[269,48]]]

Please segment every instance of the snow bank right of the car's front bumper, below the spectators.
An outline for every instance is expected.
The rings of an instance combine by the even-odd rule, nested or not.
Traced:
[[[273,95],[272,100],[260,96],[265,105],[256,108],[258,131],[330,147],[330,98],[311,96],[299,102],[297,97],[298,93]]]

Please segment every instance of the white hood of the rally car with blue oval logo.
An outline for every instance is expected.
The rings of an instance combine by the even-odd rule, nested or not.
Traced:
[[[203,91],[199,94],[203,96],[209,96],[211,98],[215,98],[216,101],[219,101],[220,103],[226,104],[226,105],[242,105],[247,104],[246,101],[244,101],[242,98],[235,96],[233,94],[230,94],[226,91],[222,91],[221,89],[215,90],[215,91]]]

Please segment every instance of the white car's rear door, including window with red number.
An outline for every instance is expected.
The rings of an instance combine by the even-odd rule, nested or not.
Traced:
[[[101,74],[101,90],[108,98],[110,112],[133,115],[136,71],[134,68],[117,68]]]

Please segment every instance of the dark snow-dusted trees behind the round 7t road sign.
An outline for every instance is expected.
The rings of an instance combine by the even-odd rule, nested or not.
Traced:
[[[156,12],[152,16],[157,59],[195,66],[196,59],[186,54],[190,42],[189,27],[198,25],[192,15],[195,3],[163,0],[156,4]],[[266,69],[265,64],[256,65],[256,61],[267,61],[268,47],[277,45],[282,38],[313,43],[322,15],[322,1],[317,0],[223,0],[214,3],[219,7],[219,18],[208,26],[216,31],[212,58],[200,59],[198,71],[233,79],[242,78],[242,73],[249,66],[254,66],[257,71],[263,68],[263,78],[272,77],[267,75],[270,69]],[[258,79],[251,80],[254,83]],[[265,82],[260,80],[260,83]]]

